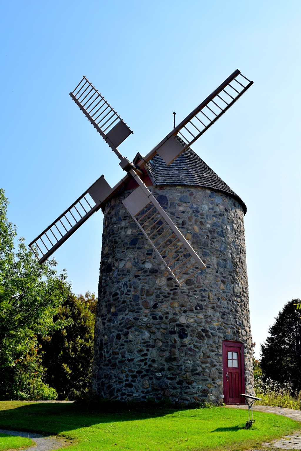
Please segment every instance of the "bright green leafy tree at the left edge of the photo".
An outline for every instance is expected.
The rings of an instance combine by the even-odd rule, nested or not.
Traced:
[[[7,206],[0,189],[0,397],[47,397],[37,334],[60,326],[53,322],[53,315],[65,301],[69,284],[65,272],[57,276],[55,260],[39,265],[23,238],[15,251],[17,231],[7,219]],[[40,395],[33,395],[34,385]]]

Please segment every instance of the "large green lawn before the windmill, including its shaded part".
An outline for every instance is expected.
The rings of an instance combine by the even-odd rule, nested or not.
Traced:
[[[0,402],[0,428],[67,437],[68,451],[244,450],[301,429],[287,417],[227,407],[173,409],[96,405]]]

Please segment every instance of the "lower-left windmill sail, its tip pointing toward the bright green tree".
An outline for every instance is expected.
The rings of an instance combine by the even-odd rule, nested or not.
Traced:
[[[87,221],[93,213],[97,212],[113,191],[114,189],[111,189],[102,175],[64,213],[38,235],[29,246],[39,259],[39,263],[45,262],[75,230]]]

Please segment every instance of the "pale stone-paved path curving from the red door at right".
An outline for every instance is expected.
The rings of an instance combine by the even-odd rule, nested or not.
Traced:
[[[227,405],[232,409],[246,409],[247,405]],[[253,405],[253,412],[266,412],[268,414],[284,415],[301,422],[301,410],[287,409],[286,407],[270,407],[268,405]],[[273,448],[294,449],[301,450],[301,431],[295,432],[292,435],[286,435],[280,440],[275,440],[271,443],[263,443],[263,446],[271,446]]]

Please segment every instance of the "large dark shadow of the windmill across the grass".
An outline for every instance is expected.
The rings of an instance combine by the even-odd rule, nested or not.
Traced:
[[[99,423],[150,419],[179,410],[185,409],[111,402],[27,404],[15,409],[0,410],[0,428],[57,435]]]

